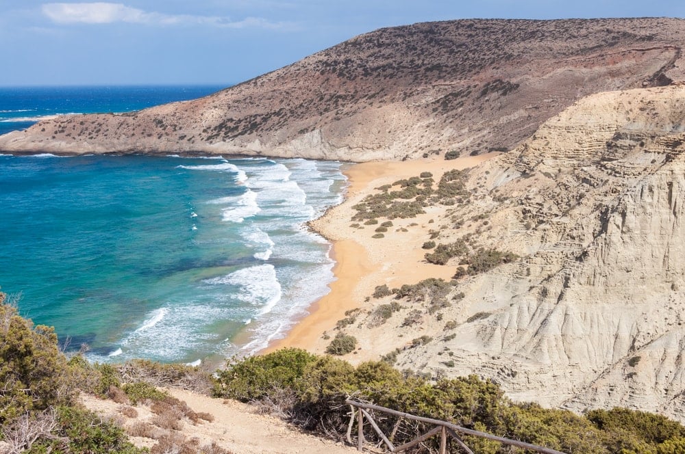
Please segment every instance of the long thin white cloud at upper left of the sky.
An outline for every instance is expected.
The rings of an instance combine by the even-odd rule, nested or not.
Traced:
[[[189,14],[163,14],[147,12],[126,6],[123,3],[45,3],[42,12],[51,21],[60,24],[110,24],[116,22],[145,25],[211,25],[226,28],[288,29],[292,25],[271,22],[264,18],[248,17],[232,21],[221,16],[192,16]]]

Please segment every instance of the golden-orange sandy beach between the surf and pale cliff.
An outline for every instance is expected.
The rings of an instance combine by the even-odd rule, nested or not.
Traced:
[[[351,227],[351,217],[356,213],[352,206],[372,193],[375,187],[419,176],[421,172],[431,172],[437,182],[447,170],[470,168],[499,154],[492,152],[451,161],[367,162],[345,170],[349,178],[345,202],[310,224],[333,243],[336,280],[330,284],[330,293],[312,305],[310,315],[262,353],[284,347],[321,353],[330,342],[324,338],[324,333],[332,337],[332,330],[338,320],[345,318],[346,311],[363,309],[364,300],[371,297],[376,286],[387,284],[392,289],[425,278],[449,280],[454,270],[425,262],[425,250],[421,248],[428,240],[429,224],[436,211],[428,208],[425,214],[415,218],[393,219],[393,226],[385,237],[375,239],[372,236],[377,226]]]

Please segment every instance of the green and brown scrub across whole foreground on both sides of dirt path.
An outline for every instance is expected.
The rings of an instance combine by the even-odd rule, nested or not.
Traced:
[[[439,297],[449,285],[429,284],[405,286],[400,294]],[[379,289],[379,294],[386,294],[386,289]],[[4,302],[0,293],[0,303]],[[388,310],[392,312],[393,306]],[[414,343],[430,341],[423,336]],[[345,399],[353,397],[569,453],[667,454],[685,449],[685,427],[656,414],[614,409],[578,416],[512,403],[497,384],[475,376],[429,381],[397,371],[387,362],[353,367],[299,349],[229,361],[215,377],[178,364],[90,364],[80,355],[67,359],[50,328],[34,326],[8,304],[0,304],[0,360],[0,450],[7,453],[228,453],[212,440],[180,431],[211,421],[212,415],[195,412],[160,388],[175,384],[255,403],[264,412],[337,440],[343,440],[348,427]],[[124,430],[117,418],[105,419],[79,407],[79,392],[119,403],[119,418],[135,418],[143,411],[151,416]],[[376,420],[388,433],[395,427],[395,420],[379,415]],[[425,429],[401,423],[395,427],[394,440],[404,442]],[[127,436],[148,438],[154,444],[140,449]],[[374,433],[365,436],[377,441]],[[466,442],[478,453],[510,452],[482,439],[466,437]],[[434,441],[427,440],[415,452],[435,450]]]

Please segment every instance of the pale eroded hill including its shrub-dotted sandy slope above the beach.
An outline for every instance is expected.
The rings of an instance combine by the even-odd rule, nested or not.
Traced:
[[[685,85],[588,96],[468,171],[407,164],[414,178],[371,178],[314,223],[372,262],[358,309],[308,338],[317,351],[343,332],[353,362],[382,353],[516,400],[685,420]],[[426,262],[444,280],[420,277]]]

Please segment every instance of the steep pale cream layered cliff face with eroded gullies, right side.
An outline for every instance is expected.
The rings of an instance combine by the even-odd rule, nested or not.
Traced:
[[[477,234],[521,259],[460,278],[440,321],[401,328],[406,306],[386,322],[401,338],[370,315],[347,329],[362,351],[399,347],[400,368],[491,377],[514,399],[685,420],[685,85],[584,98],[467,187],[435,241]]]

